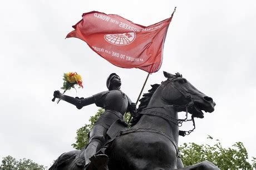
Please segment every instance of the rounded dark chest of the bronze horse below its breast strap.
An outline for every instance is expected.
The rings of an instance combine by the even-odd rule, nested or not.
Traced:
[[[175,147],[163,135],[149,132],[130,133],[117,138],[115,143],[112,151],[115,162],[119,162],[119,159],[131,169],[176,168]]]

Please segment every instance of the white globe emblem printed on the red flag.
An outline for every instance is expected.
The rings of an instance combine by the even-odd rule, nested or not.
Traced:
[[[104,38],[107,42],[114,45],[128,45],[135,40],[136,34],[134,32],[124,34],[106,34]]]

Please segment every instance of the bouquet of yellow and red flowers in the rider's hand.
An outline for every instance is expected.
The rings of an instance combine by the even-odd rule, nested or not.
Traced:
[[[63,94],[67,90],[70,90],[71,87],[76,89],[75,85],[78,85],[78,88],[80,87],[83,88],[81,75],[77,74],[76,72],[64,73],[63,77],[64,77],[63,78],[64,82],[63,82],[63,87],[61,87],[61,89],[64,90]],[[58,99],[57,104],[58,102],[60,102],[60,100],[61,99]],[[55,97],[53,97],[52,101],[55,101]]]

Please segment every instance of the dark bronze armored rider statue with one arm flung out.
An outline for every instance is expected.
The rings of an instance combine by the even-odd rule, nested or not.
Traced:
[[[60,91],[55,91],[53,96],[65,100],[70,104],[73,104],[77,109],[82,109],[83,106],[87,106],[95,103],[96,106],[105,109],[104,113],[99,117],[93,126],[88,145],[85,150],[85,167],[91,169],[94,160],[97,160],[95,153],[104,146],[107,137],[107,130],[117,120],[124,120],[125,112],[133,114],[136,110],[136,104],[131,102],[129,97],[120,90],[121,79],[120,77],[112,73],[106,82],[108,91],[100,92],[99,94],[93,95],[87,98],[71,97],[62,95]],[[107,159],[105,154],[99,155],[100,159]],[[92,161],[92,163],[90,163]],[[97,162],[93,163],[97,164]],[[103,163],[104,164],[104,163]]]

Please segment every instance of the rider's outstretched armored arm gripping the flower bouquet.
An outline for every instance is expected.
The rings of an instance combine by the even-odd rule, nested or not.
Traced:
[[[64,100],[66,102],[69,102],[72,105],[75,105],[77,109],[82,109],[83,106],[95,103],[95,98],[93,96],[87,98],[71,97],[61,94],[58,90],[54,91],[53,96],[56,98],[60,98],[61,100]]]

